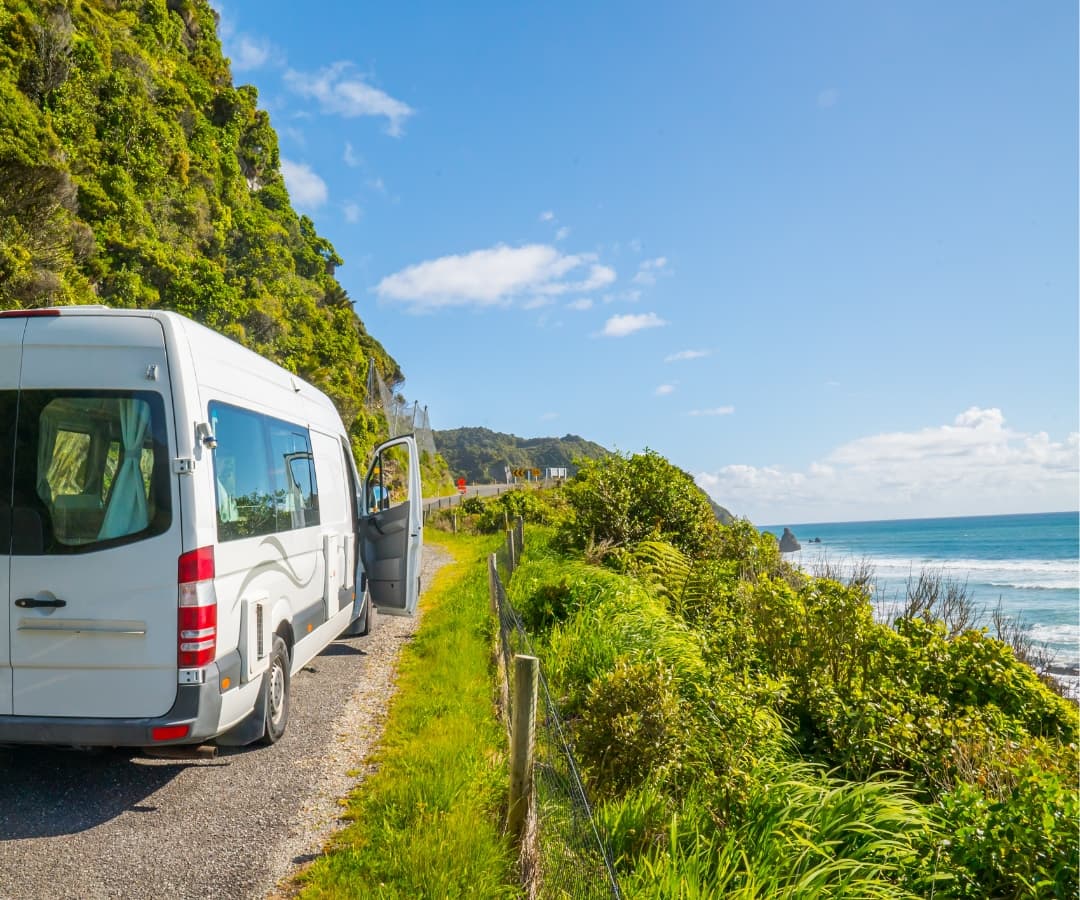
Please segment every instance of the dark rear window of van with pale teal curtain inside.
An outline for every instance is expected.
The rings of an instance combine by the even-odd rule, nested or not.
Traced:
[[[172,522],[164,404],[148,391],[25,390],[12,552],[81,553]]]

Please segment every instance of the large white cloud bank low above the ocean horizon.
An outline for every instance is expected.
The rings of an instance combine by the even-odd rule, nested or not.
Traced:
[[[725,466],[698,475],[754,521],[826,522],[1075,509],[1080,434],[1014,431],[976,406],[949,425],[859,438],[805,471]]]

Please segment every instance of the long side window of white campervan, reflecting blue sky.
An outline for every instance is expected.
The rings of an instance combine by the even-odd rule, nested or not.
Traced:
[[[319,488],[308,430],[225,403],[210,404],[217,439],[218,540],[319,524]]]

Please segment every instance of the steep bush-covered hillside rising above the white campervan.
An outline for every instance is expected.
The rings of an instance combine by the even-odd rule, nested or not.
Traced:
[[[205,0],[0,4],[0,308],[174,309],[313,381],[363,457],[396,363],[292,209],[278,137]]]

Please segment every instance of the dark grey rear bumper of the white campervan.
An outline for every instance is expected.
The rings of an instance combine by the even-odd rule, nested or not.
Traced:
[[[239,658],[239,657],[238,657]],[[227,667],[228,668],[228,667]],[[221,690],[218,663],[206,667],[203,684],[181,684],[173,708],[153,718],[77,718],[73,716],[0,715],[0,743],[77,744],[81,747],[168,747],[199,743],[220,730]],[[187,725],[174,740],[154,740],[156,728]]]

